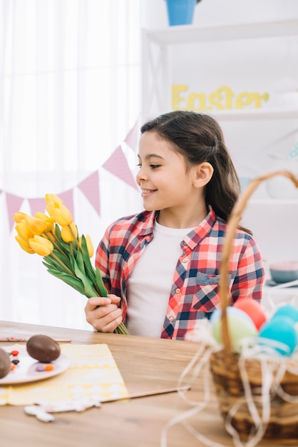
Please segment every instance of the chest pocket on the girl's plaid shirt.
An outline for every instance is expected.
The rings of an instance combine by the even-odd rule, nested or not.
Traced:
[[[195,278],[195,295],[192,298],[192,308],[197,311],[213,312],[218,307],[220,275],[207,275],[197,272]]]

